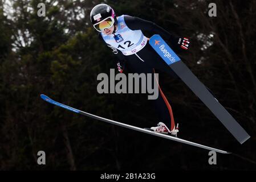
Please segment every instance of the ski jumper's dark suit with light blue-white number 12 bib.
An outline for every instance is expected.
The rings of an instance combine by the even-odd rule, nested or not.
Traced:
[[[117,17],[115,34],[105,35],[100,33],[99,38],[108,47],[112,48],[112,52],[118,57],[119,63],[129,73],[155,73],[155,69],[159,69],[176,78],[177,75],[149,45],[148,38],[143,34],[144,31],[159,34],[165,40],[169,40],[170,46],[177,48],[176,44],[174,44],[178,41],[176,36],[169,34],[169,32],[153,22],[128,15]],[[172,131],[175,127],[172,107],[170,107],[159,83],[158,86],[159,97],[153,102],[160,121],[165,123],[169,130]]]

